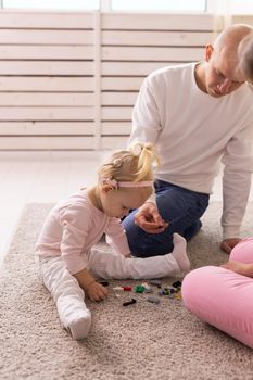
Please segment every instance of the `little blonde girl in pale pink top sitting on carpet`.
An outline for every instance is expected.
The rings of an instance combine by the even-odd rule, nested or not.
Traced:
[[[46,218],[36,245],[45,286],[52,293],[60,320],[74,339],[86,338],[91,326],[84,302],[104,300],[107,289],[99,278],[157,278],[189,270],[186,242],[174,236],[172,254],[130,258],[121,218],[138,208],[153,192],[152,164],[157,157],[151,144],[136,144],[115,152],[98,172],[98,183],[58,203]],[[93,245],[102,235],[113,253]]]

